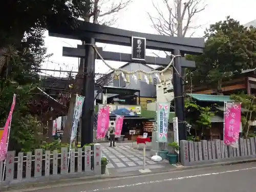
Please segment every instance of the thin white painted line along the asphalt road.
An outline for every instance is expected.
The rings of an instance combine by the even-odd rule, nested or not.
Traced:
[[[152,184],[152,183],[161,183],[164,181],[176,181],[176,180],[210,176],[210,175],[220,175],[220,174],[227,174],[227,173],[233,173],[233,172],[240,172],[242,170],[250,170],[250,169],[256,169],[256,167],[242,168],[242,169],[236,169],[236,170],[226,170],[225,172],[208,173],[208,174],[202,174],[202,175],[192,175],[192,176],[185,176],[185,177],[169,178],[169,179],[163,179],[163,180],[157,180],[157,181],[146,181],[146,182],[141,182],[141,183],[111,186],[111,187],[106,187],[106,188],[101,188],[101,189],[98,188],[98,189],[92,189],[92,190],[84,190],[84,191],[80,191],[80,192],[95,192],[95,191],[110,190],[110,189],[116,189],[116,188],[134,187],[134,186],[146,185],[146,184]]]

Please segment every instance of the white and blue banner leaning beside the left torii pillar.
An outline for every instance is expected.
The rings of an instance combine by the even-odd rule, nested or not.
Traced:
[[[82,105],[83,105],[84,97],[76,94],[76,103],[75,103],[75,109],[74,109],[74,118],[72,123],[72,132],[71,132],[71,138],[70,143],[74,141],[76,138],[76,132],[77,132],[77,125],[79,118],[82,113]]]

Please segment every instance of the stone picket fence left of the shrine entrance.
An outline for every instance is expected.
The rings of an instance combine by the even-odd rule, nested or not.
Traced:
[[[41,148],[32,152],[19,152],[15,157],[15,151],[9,151],[5,162],[0,162],[0,181],[5,184],[49,180],[50,178],[70,178],[74,175],[101,175],[101,148],[100,144],[69,150],[61,148],[44,151]]]

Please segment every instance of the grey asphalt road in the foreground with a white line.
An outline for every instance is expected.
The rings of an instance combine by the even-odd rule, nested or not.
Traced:
[[[256,163],[227,165],[38,188],[36,192],[253,192]],[[18,190],[16,190],[18,191]],[[32,191],[24,189],[19,191]]]

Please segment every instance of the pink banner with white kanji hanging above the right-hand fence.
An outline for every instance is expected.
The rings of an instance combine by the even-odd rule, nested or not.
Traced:
[[[224,144],[238,147],[241,103],[226,102],[224,117]]]

